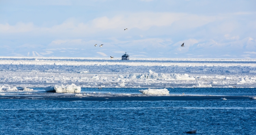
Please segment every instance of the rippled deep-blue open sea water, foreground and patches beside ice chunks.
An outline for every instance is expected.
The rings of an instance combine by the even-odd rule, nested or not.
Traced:
[[[170,90],[170,93],[193,91],[191,88],[175,89]],[[83,88],[87,92],[95,90]],[[105,89],[106,92],[117,93],[137,90]],[[226,93],[231,95],[254,95],[256,90],[203,88],[198,93],[222,95],[223,91],[230,91]],[[255,114],[256,100],[249,98],[165,101],[0,100],[0,134],[180,135],[197,129],[200,135],[255,135]]]

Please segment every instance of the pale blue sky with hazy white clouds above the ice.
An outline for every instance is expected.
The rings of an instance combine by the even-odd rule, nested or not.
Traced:
[[[255,0],[0,0],[6,57],[256,58],[255,40]]]

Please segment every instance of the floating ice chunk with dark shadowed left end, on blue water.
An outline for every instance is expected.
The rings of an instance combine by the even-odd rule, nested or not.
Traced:
[[[45,88],[46,92],[56,92],[56,93],[80,93],[81,92],[81,87],[80,86],[76,86],[75,84],[67,84],[65,86],[63,86],[63,84],[61,84],[61,86],[48,86]]]

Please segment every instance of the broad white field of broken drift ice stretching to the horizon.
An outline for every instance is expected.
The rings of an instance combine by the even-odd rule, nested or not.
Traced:
[[[255,88],[254,59],[0,57],[0,86]]]

